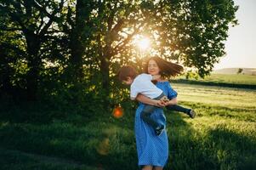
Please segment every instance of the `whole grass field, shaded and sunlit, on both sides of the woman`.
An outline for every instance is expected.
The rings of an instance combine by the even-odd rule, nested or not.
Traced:
[[[173,83],[195,119],[165,111],[165,169],[255,169],[256,90]],[[0,169],[138,169],[134,108],[48,123],[0,122]]]

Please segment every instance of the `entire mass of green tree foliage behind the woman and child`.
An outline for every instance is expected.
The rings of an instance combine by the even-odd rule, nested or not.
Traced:
[[[88,103],[83,96],[94,100],[95,94],[95,101],[111,107],[128,94],[115,82],[117,70],[134,65],[142,71],[142,54],[192,67],[204,77],[225,54],[236,10],[232,0],[4,0],[0,94],[9,100],[53,96],[64,104],[71,103],[66,95]],[[151,50],[139,51],[138,35],[151,39]]]

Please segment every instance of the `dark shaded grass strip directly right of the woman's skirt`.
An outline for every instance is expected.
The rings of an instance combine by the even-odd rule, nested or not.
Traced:
[[[168,120],[169,160],[165,169],[191,169],[191,157],[196,140],[194,129],[185,119],[189,116],[176,111],[165,111]],[[189,160],[189,161],[188,161]]]

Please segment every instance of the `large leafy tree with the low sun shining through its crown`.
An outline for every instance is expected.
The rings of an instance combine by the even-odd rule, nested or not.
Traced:
[[[201,77],[225,54],[229,25],[236,25],[237,7],[232,0],[219,1],[98,1],[90,20],[90,38],[109,93],[113,63],[140,65],[133,38],[151,38],[151,54],[196,68]]]

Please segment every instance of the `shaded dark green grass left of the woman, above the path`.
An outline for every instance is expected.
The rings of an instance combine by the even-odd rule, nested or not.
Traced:
[[[130,125],[122,126],[120,122],[126,121],[103,116],[83,126],[82,122],[63,121],[37,125],[1,122],[0,147],[64,158],[99,169],[131,169],[137,166],[134,133],[128,128]],[[33,164],[30,159],[27,162]]]

